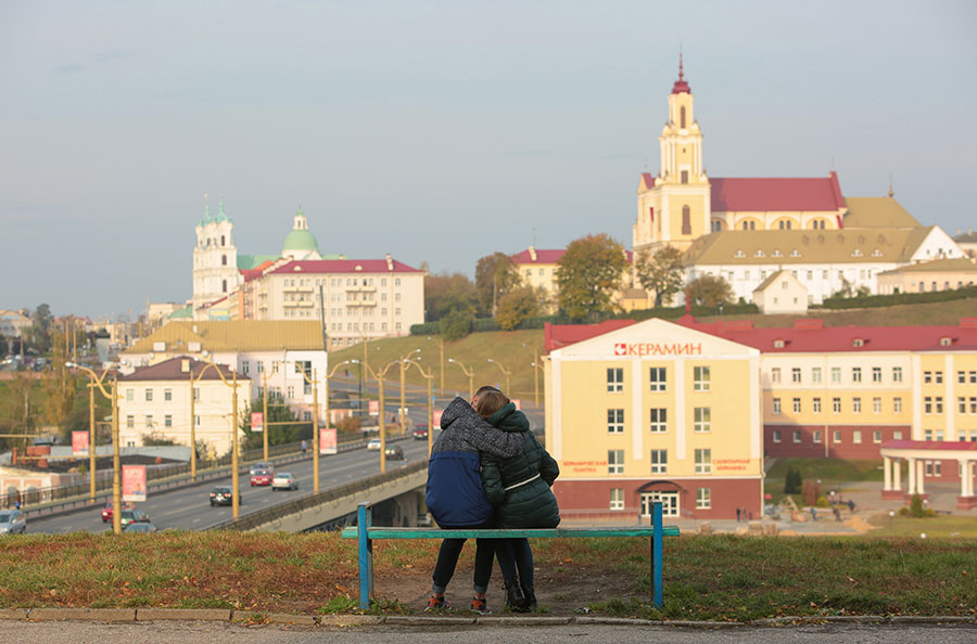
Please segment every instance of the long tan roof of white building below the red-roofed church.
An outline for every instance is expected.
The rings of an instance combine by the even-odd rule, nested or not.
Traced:
[[[935,228],[725,230],[697,239],[683,261],[686,266],[909,262]]]

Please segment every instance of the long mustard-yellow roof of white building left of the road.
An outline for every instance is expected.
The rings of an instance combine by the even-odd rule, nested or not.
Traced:
[[[200,343],[201,350],[211,352],[319,350],[322,349],[322,326],[314,320],[174,320],[123,355],[152,353],[155,343],[166,343],[168,352],[189,351],[190,343]]]

